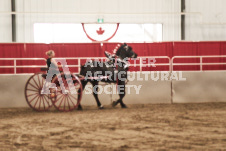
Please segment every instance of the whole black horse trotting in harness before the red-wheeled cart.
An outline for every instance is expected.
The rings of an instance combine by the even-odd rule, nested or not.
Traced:
[[[90,82],[93,86],[93,95],[95,97],[97,106],[99,107],[99,109],[103,109],[103,106],[101,105],[97,94],[98,83],[100,81],[117,83],[118,91],[120,90],[120,98],[117,101],[114,101],[112,105],[116,106],[118,103],[120,103],[122,108],[126,108],[126,105],[123,103],[122,99],[125,96],[128,59],[137,58],[137,54],[133,51],[132,47],[124,43],[121,44],[115,55],[111,55],[108,52],[105,52],[105,55],[109,58],[108,61],[90,60],[87,61],[85,65],[81,66],[80,75],[85,76],[85,79],[82,81],[83,89],[85,88],[86,84]],[[100,78],[98,78],[97,75]],[[82,109],[82,106],[79,105],[78,109]]]

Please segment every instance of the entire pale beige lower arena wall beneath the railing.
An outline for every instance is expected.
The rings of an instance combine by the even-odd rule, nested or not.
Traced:
[[[131,93],[125,96],[124,102],[126,104],[171,103],[171,100],[173,103],[226,102],[225,71],[182,72],[182,75],[186,81],[173,80],[171,83],[170,80],[154,81],[151,78],[147,81],[129,81],[128,85],[142,87],[139,94],[131,88]],[[0,108],[28,107],[24,87],[30,76],[0,75]],[[141,78],[144,77],[142,74]],[[118,96],[101,94],[99,98],[103,105],[109,105],[111,98],[116,100]],[[81,104],[96,105],[96,102],[92,94],[84,94]]]

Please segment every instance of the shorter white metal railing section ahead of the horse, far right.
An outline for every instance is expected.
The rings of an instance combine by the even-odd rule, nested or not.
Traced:
[[[174,63],[175,59],[199,59],[199,63]],[[212,63],[204,63],[203,59],[204,58],[225,58],[226,55],[218,55],[218,56],[174,56],[171,59],[171,70],[174,71],[174,66],[199,66],[200,71],[203,71],[203,66],[204,65],[226,65],[225,62],[212,62]]]

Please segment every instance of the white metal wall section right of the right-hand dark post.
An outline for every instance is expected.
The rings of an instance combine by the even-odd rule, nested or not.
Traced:
[[[186,40],[226,40],[225,0],[186,0]]]

